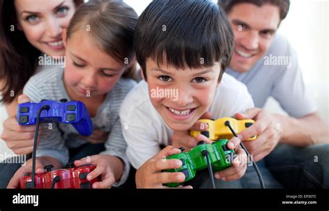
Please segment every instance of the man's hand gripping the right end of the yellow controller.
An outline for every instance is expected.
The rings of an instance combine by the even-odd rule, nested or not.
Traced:
[[[262,160],[278,145],[282,135],[282,124],[276,116],[263,109],[252,108],[244,113],[236,113],[237,120],[253,119],[255,123],[239,133],[239,138],[243,141],[257,135],[256,140],[244,141],[244,145],[253,160]]]

